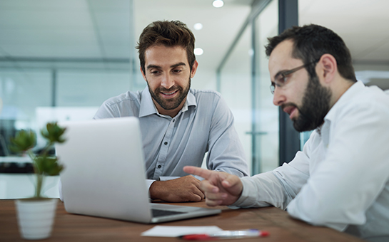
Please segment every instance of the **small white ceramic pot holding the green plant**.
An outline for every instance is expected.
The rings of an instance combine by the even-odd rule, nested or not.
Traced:
[[[16,200],[19,232],[25,239],[43,239],[51,236],[58,199]]]

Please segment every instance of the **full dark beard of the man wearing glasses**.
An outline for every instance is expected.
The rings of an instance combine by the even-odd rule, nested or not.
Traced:
[[[293,106],[298,109],[298,117],[292,119],[293,127],[298,132],[315,130],[323,124],[324,117],[330,110],[331,96],[330,88],[323,87],[318,80],[318,76],[315,75],[308,82],[301,107],[294,103],[287,103],[282,105],[281,108]]]

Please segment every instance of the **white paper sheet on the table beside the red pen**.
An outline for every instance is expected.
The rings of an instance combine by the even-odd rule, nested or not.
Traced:
[[[218,226],[154,226],[141,233],[141,236],[178,237],[194,233],[215,233],[222,230]]]

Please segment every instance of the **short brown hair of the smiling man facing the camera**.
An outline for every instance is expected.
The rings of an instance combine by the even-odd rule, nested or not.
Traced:
[[[186,49],[189,67],[192,70],[196,61],[194,55],[195,37],[185,23],[181,21],[155,21],[143,29],[141,36],[139,36],[138,46],[136,46],[143,73],[145,73],[146,49],[157,45],[181,46]]]

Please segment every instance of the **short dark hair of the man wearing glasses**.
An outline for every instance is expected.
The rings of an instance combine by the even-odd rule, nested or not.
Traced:
[[[328,53],[335,58],[339,74],[343,78],[353,82],[357,81],[350,51],[345,46],[343,39],[330,29],[315,24],[288,28],[278,36],[268,38],[268,45],[265,47],[266,56],[270,56],[274,48],[286,40],[291,40],[294,43],[293,58],[298,58],[304,64],[308,64]],[[307,65],[306,69],[310,77],[316,76],[313,65]]]

